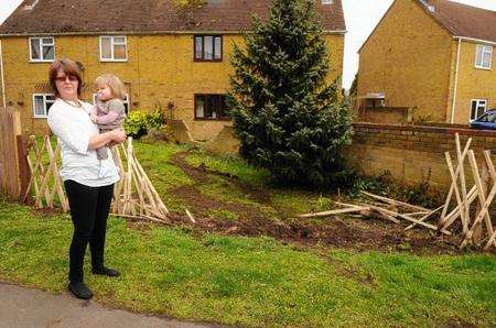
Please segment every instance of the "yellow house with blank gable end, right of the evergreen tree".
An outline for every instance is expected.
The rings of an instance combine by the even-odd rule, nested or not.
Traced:
[[[495,11],[396,0],[359,50],[359,106],[466,124],[496,108],[495,45]]]

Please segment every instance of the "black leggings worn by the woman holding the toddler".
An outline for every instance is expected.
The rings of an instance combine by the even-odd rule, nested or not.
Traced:
[[[83,282],[83,263],[86,245],[91,251],[93,269],[104,266],[105,232],[112,200],[114,184],[88,187],[74,181],[64,182],[74,225],[69,250],[69,281]]]

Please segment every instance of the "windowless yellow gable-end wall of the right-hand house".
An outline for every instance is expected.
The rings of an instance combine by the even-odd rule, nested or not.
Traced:
[[[384,91],[387,107],[444,122],[452,36],[416,0],[397,0],[359,52],[358,97]]]

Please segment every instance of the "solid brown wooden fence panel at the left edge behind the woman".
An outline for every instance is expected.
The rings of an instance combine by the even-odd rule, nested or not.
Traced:
[[[26,139],[22,135],[21,113],[13,108],[0,108],[0,193],[22,198],[30,179]]]

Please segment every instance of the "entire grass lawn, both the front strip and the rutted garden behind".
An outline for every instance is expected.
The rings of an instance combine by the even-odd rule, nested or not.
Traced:
[[[111,218],[107,264],[122,275],[86,275],[97,302],[251,327],[496,326],[494,254],[423,252],[414,241],[429,249],[433,240],[413,239],[417,234],[405,234],[411,244],[400,251],[384,238],[400,233],[387,230],[389,223],[295,222],[296,214],[332,206],[334,196],[270,187],[267,173],[236,157],[142,142],[136,142],[136,152],[164,203],[177,214],[187,207],[198,223],[164,227]],[[261,219],[272,226],[255,229]],[[355,239],[312,234],[339,225],[337,232]],[[229,232],[233,227],[239,233]],[[278,236],[273,227],[289,230]],[[302,227],[310,234],[291,236]],[[369,230],[388,232],[355,247]],[[66,215],[0,200],[0,280],[65,292],[71,234]],[[382,243],[374,243],[377,238]]]

